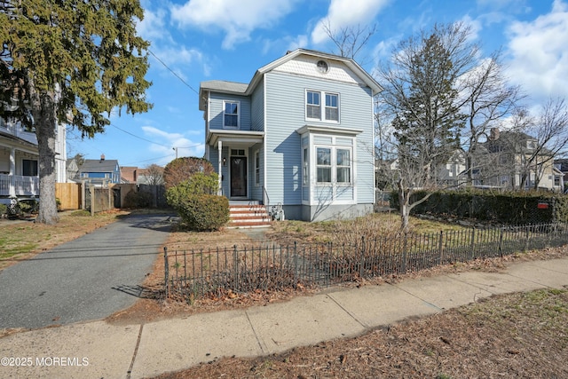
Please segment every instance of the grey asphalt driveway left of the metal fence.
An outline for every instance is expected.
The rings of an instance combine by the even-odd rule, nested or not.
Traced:
[[[172,216],[130,215],[0,272],[0,328],[99,320],[134,304]]]

